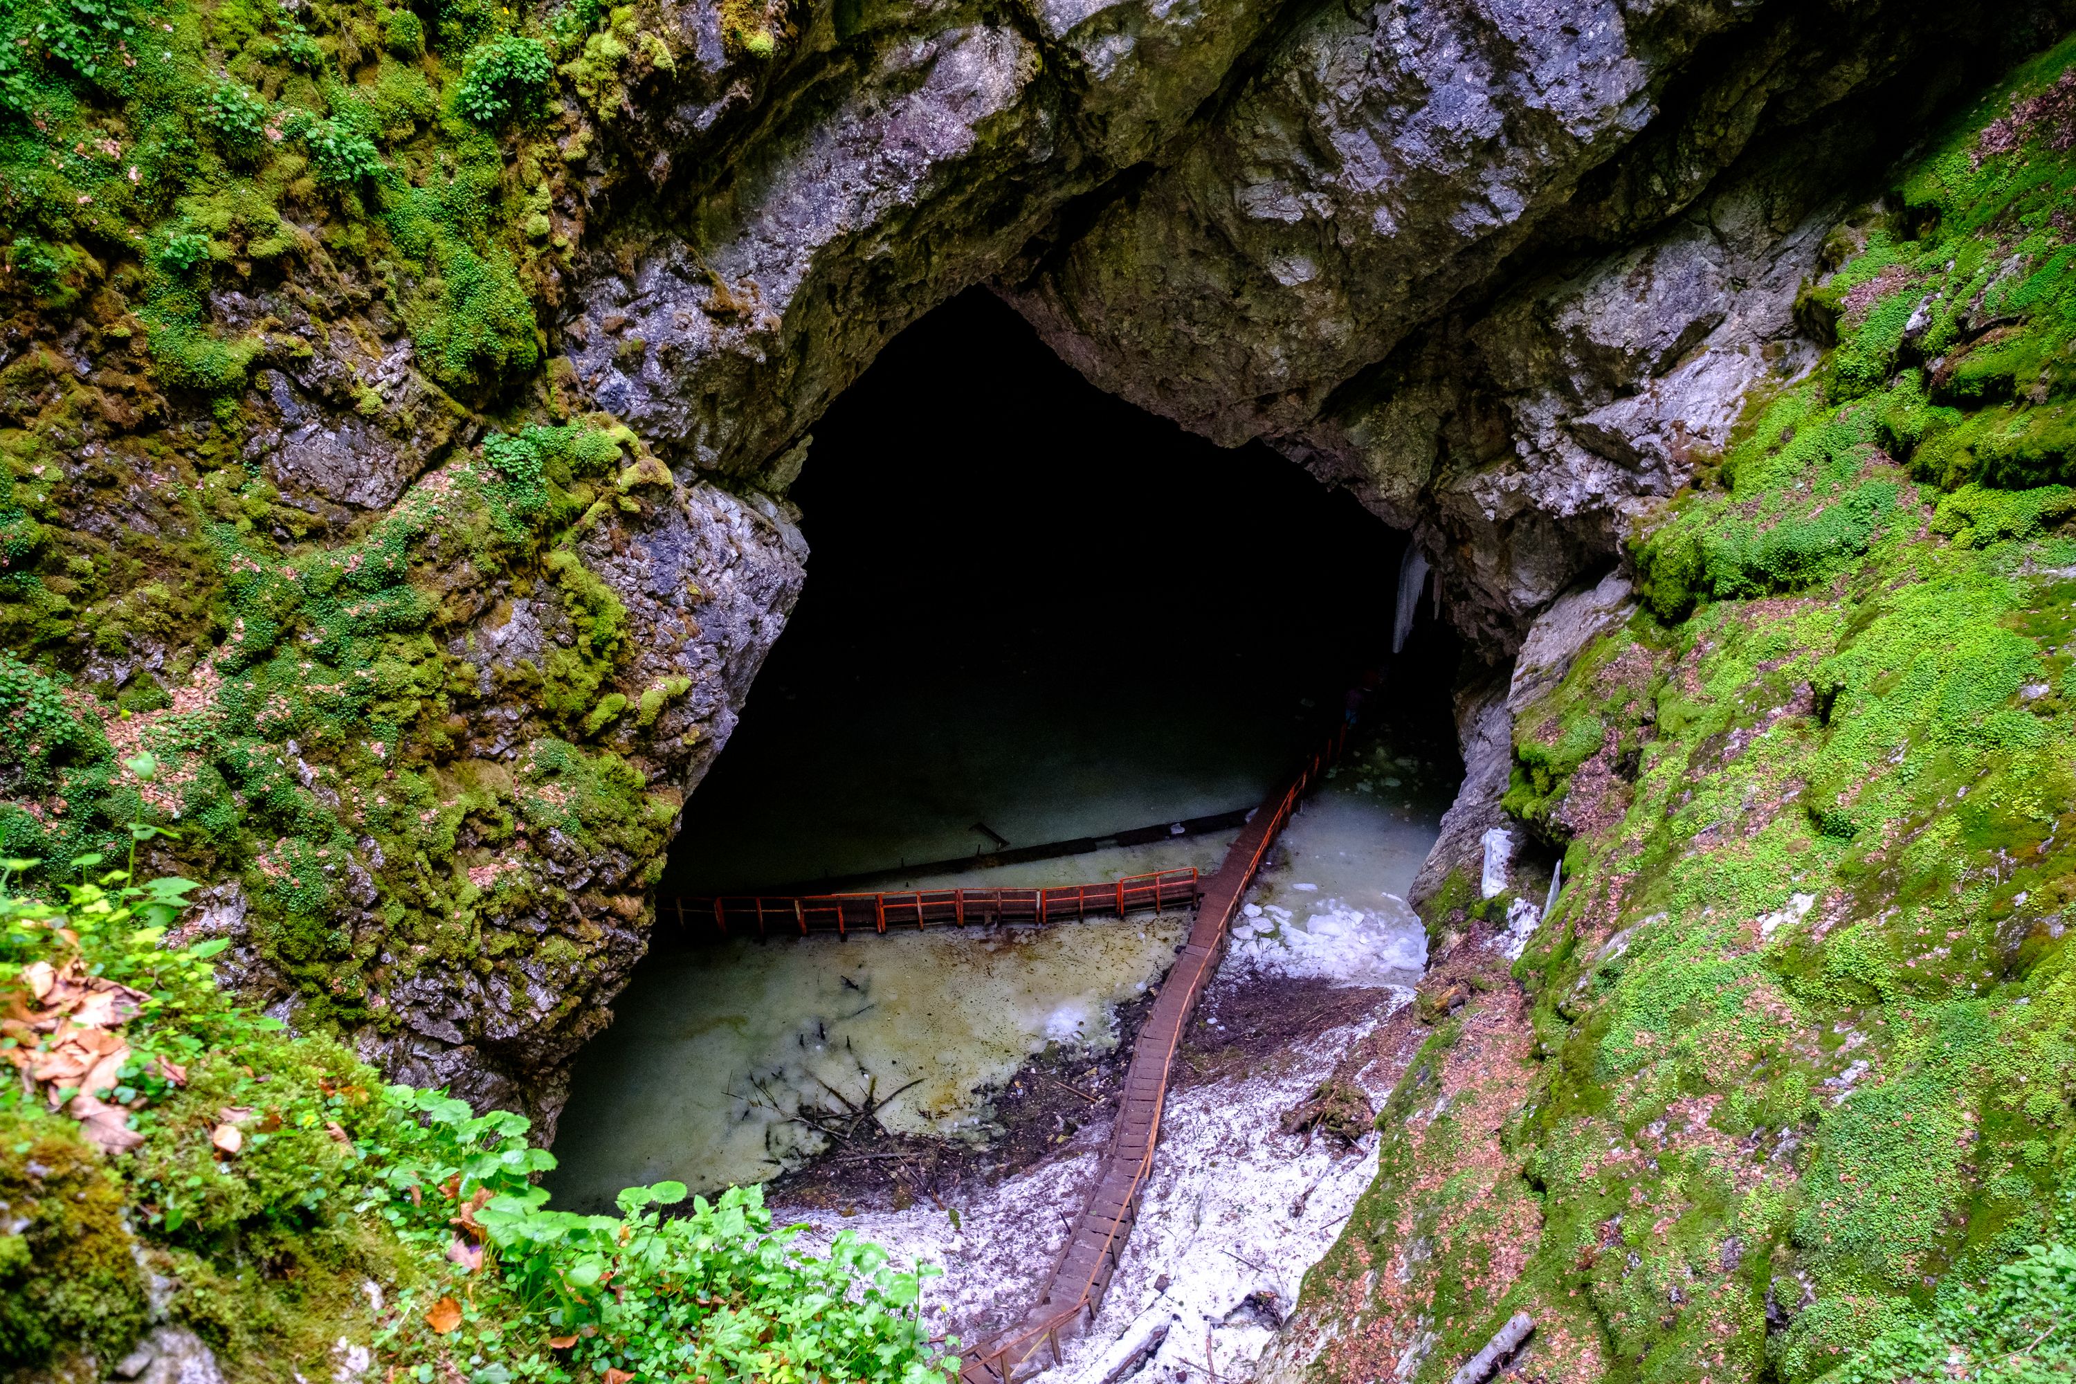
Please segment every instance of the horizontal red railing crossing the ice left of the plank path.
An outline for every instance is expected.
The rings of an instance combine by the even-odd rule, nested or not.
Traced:
[[[662,901],[683,928],[718,938],[803,938],[812,932],[1057,923],[1196,907],[1198,871],[1160,869],[1109,884],[1055,888],[911,888],[880,894],[722,894]]]

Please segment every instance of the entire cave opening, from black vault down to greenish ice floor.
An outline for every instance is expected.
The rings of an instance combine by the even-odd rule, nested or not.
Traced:
[[[1418,977],[1418,921],[1376,901],[1408,888],[1453,793],[1457,652],[1422,610],[1391,656],[1401,533],[1266,446],[1219,448],[1102,394],[984,290],[830,407],[793,500],[808,583],[685,805],[664,898],[1208,869],[1237,826],[974,857],[1248,809],[1381,670],[1358,770],[1308,811],[1310,838],[1285,838],[1312,859],[1281,917],[1302,930],[1314,898],[1354,898],[1329,909],[1343,959]],[[1001,1135],[988,1091],[1040,1050],[1115,1048],[1119,1006],[1187,925],[714,946],[671,919],[579,1058],[558,1201],[766,1181],[891,1094],[889,1129]]]

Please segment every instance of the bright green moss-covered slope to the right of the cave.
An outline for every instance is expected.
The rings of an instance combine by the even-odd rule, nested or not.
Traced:
[[[1513,967],[1526,1102],[1472,1116],[1511,1174],[1414,1154],[1482,1147],[1428,1112],[1445,1023],[1308,1284],[1432,1330],[1418,1380],[1515,1307],[1553,1378],[2076,1372],[2072,60],[1835,232],[1825,365],[1515,728],[1507,807],[1569,884]]]

